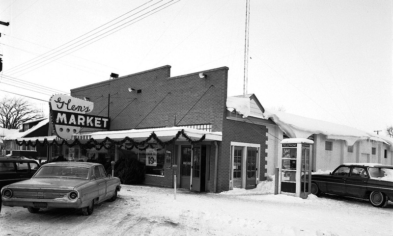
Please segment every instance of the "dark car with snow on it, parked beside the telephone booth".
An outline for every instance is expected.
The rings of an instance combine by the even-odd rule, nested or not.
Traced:
[[[384,208],[393,201],[393,166],[344,163],[332,173],[311,175],[310,192],[369,199],[372,206]]]

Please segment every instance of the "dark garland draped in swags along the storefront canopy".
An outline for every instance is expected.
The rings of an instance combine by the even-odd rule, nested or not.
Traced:
[[[196,145],[196,144],[202,142],[206,138],[206,134],[203,134],[203,136],[199,140],[194,141],[186,134],[186,132],[184,130],[181,130],[181,131],[178,131],[172,139],[170,139],[166,142],[161,141],[157,137],[157,135],[154,133],[154,131],[150,134],[149,137],[147,137],[145,140],[140,141],[140,142],[137,142],[128,136],[126,136],[121,141],[116,141],[116,140],[113,140],[109,137],[106,137],[106,138],[104,138],[104,140],[102,142],[98,142],[98,141],[94,140],[94,138],[90,138],[86,143],[81,143],[81,141],[77,138],[72,143],[69,143],[67,140],[57,141],[56,139],[52,140],[52,142],[49,142],[46,138],[42,142],[40,142],[38,139],[35,141],[31,141],[31,140],[18,141],[18,139],[15,139],[15,141],[16,141],[16,144],[19,146],[26,145],[26,146],[31,146],[31,147],[36,147],[37,145],[40,145],[41,147],[44,145],[48,145],[51,147],[52,147],[52,145],[56,145],[56,146],[66,145],[67,147],[72,148],[76,145],[79,145],[82,149],[96,148],[97,150],[101,150],[101,148],[111,149],[113,146],[117,145],[120,148],[124,147],[126,150],[132,150],[133,148],[138,148],[140,151],[144,151],[149,147],[153,148],[153,145],[148,143],[151,139],[156,141],[157,144],[159,144],[161,147],[164,147],[166,144],[173,144],[177,139],[179,139],[180,135],[193,145]],[[131,144],[131,147],[127,147],[130,144]],[[139,148],[140,146],[142,146],[144,148]]]

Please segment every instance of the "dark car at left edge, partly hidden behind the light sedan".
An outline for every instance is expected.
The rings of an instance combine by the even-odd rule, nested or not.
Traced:
[[[30,179],[39,167],[39,164],[32,159],[0,156],[0,188],[7,184]]]

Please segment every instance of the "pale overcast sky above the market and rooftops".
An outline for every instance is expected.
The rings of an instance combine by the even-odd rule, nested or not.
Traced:
[[[53,94],[164,65],[172,77],[226,66],[228,96],[244,93],[246,0],[1,0],[0,21],[0,98],[44,113]],[[384,134],[392,22],[390,0],[251,0],[247,93]]]

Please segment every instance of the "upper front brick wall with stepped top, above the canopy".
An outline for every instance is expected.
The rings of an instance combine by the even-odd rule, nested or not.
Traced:
[[[169,78],[170,66],[164,66],[72,89],[71,96],[88,97],[94,102],[91,114],[107,116],[111,94],[111,130],[212,124],[213,131],[221,131],[227,70],[222,67],[204,71],[206,79],[200,79],[198,73]],[[129,92],[129,87],[136,90]],[[137,93],[138,89],[141,93]]]

